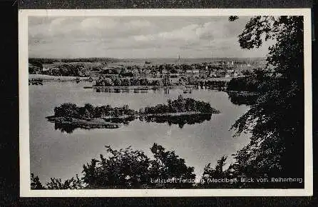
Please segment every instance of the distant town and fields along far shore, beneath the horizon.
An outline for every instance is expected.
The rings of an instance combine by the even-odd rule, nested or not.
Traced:
[[[29,59],[31,83],[96,81],[93,86],[184,86],[228,82],[264,68],[265,59]]]

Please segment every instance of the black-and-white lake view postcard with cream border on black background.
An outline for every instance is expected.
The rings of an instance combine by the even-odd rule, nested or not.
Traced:
[[[310,9],[19,11],[21,196],[310,196]]]

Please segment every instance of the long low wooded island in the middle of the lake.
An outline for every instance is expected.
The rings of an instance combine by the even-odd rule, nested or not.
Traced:
[[[168,99],[167,104],[147,106],[139,111],[130,109],[128,105],[120,107],[93,106],[85,104],[66,103],[54,108],[54,115],[47,116],[48,121],[55,123],[55,128],[67,133],[75,128],[119,128],[123,124],[139,118],[140,121],[167,122],[179,124],[180,128],[185,123],[194,124],[210,120],[212,113],[220,113],[210,106],[210,103],[196,101],[195,99],[178,96],[178,99]]]

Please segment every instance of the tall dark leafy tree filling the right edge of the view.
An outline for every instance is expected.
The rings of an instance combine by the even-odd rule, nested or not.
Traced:
[[[237,134],[250,131],[250,143],[238,151],[237,176],[304,174],[304,48],[302,16],[255,16],[240,34],[244,49],[258,48],[262,37],[273,39],[267,76],[256,103],[233,125]],[[277,186],[277,185],[276,185]],[[288,186],[288,183],[282,183]]]

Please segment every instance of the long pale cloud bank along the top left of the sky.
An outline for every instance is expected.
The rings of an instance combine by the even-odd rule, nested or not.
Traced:
[[[140,29],[150,27],[145,20],[120,21],[114,17],[58,17],[48,19],[42,24],[29,22],[29,37],[43,39],[54,37],[64,38],[112,38],[138,34]],[[39,21],[37,22],[39,23]]]

